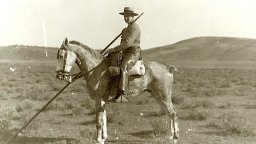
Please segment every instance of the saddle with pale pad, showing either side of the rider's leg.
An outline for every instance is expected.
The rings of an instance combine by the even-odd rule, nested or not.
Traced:
[[[122,53],[113,53],[109,57],[108,72],[111,76],[120,75],[120,63],[122,61]],[[127,69],[129,75],[145,75],[145,66],[142,60],[138,60],[135,64]]]

